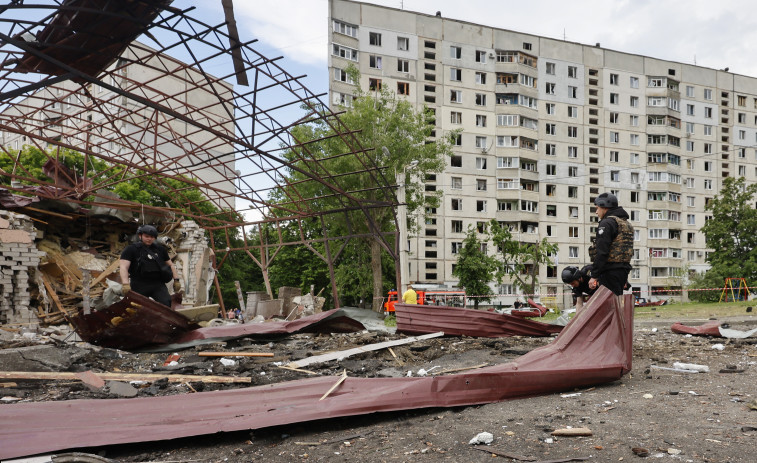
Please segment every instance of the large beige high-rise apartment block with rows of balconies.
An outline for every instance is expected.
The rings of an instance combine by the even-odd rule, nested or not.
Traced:
[[[681,275],[708,268],[705,204],[726,177],[757,179],[753,77],[349,0],[329,16],[334,105],[350,104],[354,64],[363,88],[433,111],[436,135],[463,130],[445,171],[419,177],[444,196],[403,243],[413,281],[455,285],[466,231],[496,219],[559,245],[538,272],[540,293],[560,295],[560,271],[589,263],[592,203],[609,191],[636,231],[634,290],[679,297]],[[520,292],[490,286],[495,302]]]

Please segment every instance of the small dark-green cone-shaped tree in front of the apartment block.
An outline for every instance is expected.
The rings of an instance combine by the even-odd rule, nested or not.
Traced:
[[[469,296],[475,296],[473,306],[476,309],[478,309],[479,301],[491,300],[489,282],[497,268],[496,260],[487,255],[481,245],[482,242],[476,236],[476,230],[472,227],[468,228],[463,248],[457,256],[457,264],[452,270],[452,275],[460,280],[459,285],[465,288],[465,292]]]

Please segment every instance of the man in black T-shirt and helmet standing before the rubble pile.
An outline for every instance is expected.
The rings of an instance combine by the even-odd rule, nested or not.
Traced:
[[[173,276],[173,290],[181,290],[176,272],[166,248],[156,243],[158,229],[152,225],[142,225],[137,230],[138,243],[132,243],[121,253],[119,270],[123,293],[134,290],[156,302],[171,307],[171,295],[166,288],[167,279]],[[168,268],[166,268],[166,266]],[[165,275],[170,269],[170,275]],[[170,279],[168,280],[170,281]]]

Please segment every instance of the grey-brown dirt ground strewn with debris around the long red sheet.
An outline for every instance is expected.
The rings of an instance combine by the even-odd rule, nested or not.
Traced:
[[[199,436],[173,441],[77,449],[124,462],[271,462],[355,461],[757,461],[757,338],[722,339],[674,334],[676,320],[637,320],[634,325],[633,370],[621,380],[596,387],[529,399],[453,409],[423,409],[279,426],[256,431]],[[688,320],[695,325],[704,320]],[[757,326],[757,317],[728,321],[732,328]],[[276,341],[248,339],[180,352],[185,374],[249,376],[253,385],[306,376],[274,366],[355,345],[401,337],[362,332],[294,335]],[[493,365],[551,342],[551,338],[437,338],[386,351],[312,365],[322,375],[406,376],[441,370]],[[11,348],[31,342],[11,341]],[[721,350],[722,347],[722,350]],[[167,354],[131,354],[89,345],[67,349],[69,371],[164,371]],[[242,359],[224,366],[219,359],[199,357],[200,350],[274,352],[273,359]],[[709,367],[707,373],[677,373],[674,362]],[[400,364],[401,363],[401,364]],[[17,381],[2,390],[5,397],[30,401],[114,397],[92,392],[71,381]],[[192,383],[197,390],[246,385]],[[158,381],[143,385],[138,396],[192,393],[186,385]],[[0,407],[12,407],[12,403]],[[0,408],[0,410],[2,410]],[[0,411],[0,413],[2,413]],[[557,429],[589,428],[589,437],[553,437]],[[471,445],[481,432],[490,445]],[[497,456],[496,454],[500,455]],[[507,456],[506,456],[507,455]],[[515,459],[514,459],[515,458]]]

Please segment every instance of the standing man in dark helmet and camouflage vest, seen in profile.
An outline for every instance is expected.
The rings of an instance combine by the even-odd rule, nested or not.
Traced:
[[[594,199],[594,205],[600,222],[594,245],[589,248],[592,259],[589,287],[596,289],[602,285],[620,296],[631,271],[633,226],[614,194],[602,193]]]

